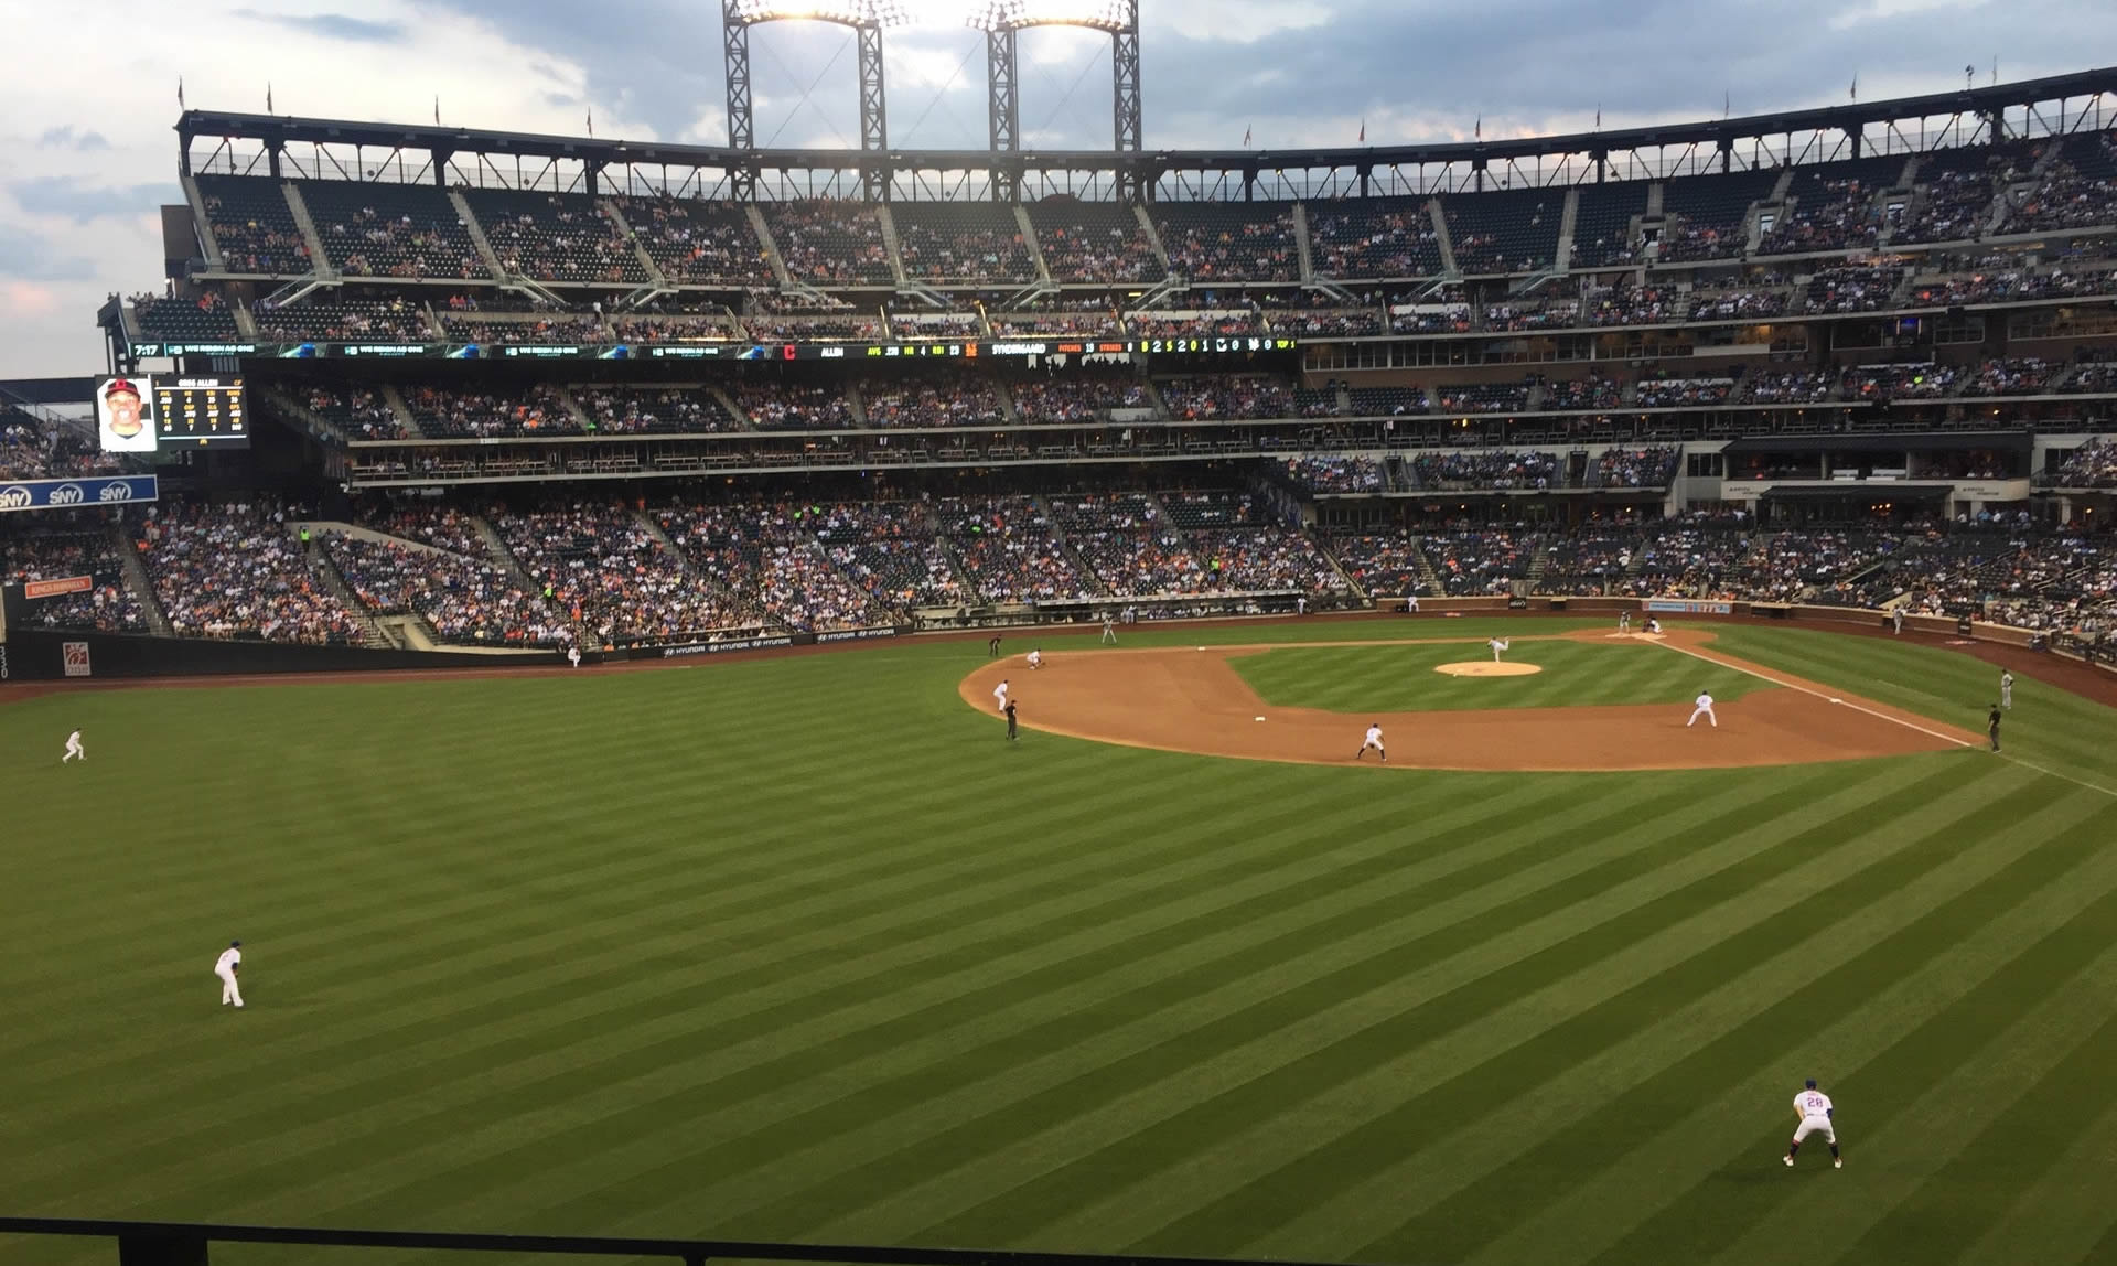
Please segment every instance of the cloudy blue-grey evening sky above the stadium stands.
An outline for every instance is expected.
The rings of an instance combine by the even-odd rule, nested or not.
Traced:
[[[906,0],[948,6],[959,0]],[[93,313],[159,288],[193,106],[597,135],[726,140],[713,0],[74,0],[15,4],[0,76],[0,377],[102,364]],[[1141,0],[1145,142],[1260,148],[1518,135],[1835,104],[2083,70],[2111,0]],[[78,49],[78,55],[66,53]],[[1109,144],[1109,42],[1023,36],[1025,144]],[[2106,59],[2106,57],[2104,57]],[[93,70],[91,70],[93,64]],[[889,34],[891,142],[984,146],[963,30]],[[760,144],[849,146],[840,28],[752,36]],[[811,91],[813,89],[813,91]]]

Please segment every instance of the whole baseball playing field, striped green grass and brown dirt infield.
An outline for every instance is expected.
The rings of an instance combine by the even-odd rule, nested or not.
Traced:
[[[2018,669],[1994,756],[1994,665],[1768,625],[1003,650],[0,688],[0,1213],[2117,1260],[2111,707]]]

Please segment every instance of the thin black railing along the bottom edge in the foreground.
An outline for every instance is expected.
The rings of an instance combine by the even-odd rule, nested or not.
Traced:
[[[121,1266],[207,1266],[214,1243],[309,1245],[334,1249],[455,1249],[569,1258],[851,1262],[862,1266],[1302,1266],[1232,1258],[1126,1258],[1103,1253],[1012,1253],[989,1249],[889,1249],[870,1245],[771,1245],[745,1241],[663,1241],[563,1234],[476,1234],[428,1230],[320,1230],[301,1226],[216,1226],[205,1222],[102,1222],[78,1217],[0,1217],[0,1234],[70,1234],[116,1241]]]

